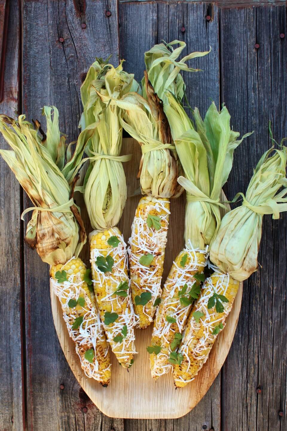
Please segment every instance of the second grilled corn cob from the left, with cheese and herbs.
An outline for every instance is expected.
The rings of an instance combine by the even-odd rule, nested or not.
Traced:
[[[113,245],[109,245],[110,239],[114,240]],[[101,256],[112,257],[110,271],[104,272],[105,269],[100,266],[98,258]],[[107,339],[119,363],[129,368],[134,362],[134,353],[137,353],[134,347],[137,316],[134,315],[129,290],[126,244],[118,228],[90,234],[90,261],[94,292]],[[112,323],[107,323],[111,317],[109,313],[116,313]]]

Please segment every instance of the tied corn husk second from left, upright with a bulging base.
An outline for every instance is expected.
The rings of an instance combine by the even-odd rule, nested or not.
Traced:
[[[137,87],[134,75],[122,70],[122,62],[114,68],[102,59],[97,59],[90,66],[81,86],[84,112],[80,127],[91,132],[85,149],[90,166],[82,191],[94,229],[105,230],[117,225],[127,199],[122,162],[130,157],[119,156],[122,147],[119,107],[109,103],[109,100],[117,100]]]

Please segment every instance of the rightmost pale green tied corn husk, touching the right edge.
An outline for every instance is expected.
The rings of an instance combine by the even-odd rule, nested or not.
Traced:
[[[279,219],[280,212],[287,211],[286,163],[286,147],[266,151],[254,170],[246,196],[240,193],[235,197],[243,197],[242,205],[221,221],[210,260],[235,280],[246,280],[257,270],[263,215],[272,214],[273,219]]]

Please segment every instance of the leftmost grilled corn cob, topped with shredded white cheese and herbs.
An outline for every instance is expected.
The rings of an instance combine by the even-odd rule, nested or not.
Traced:
[[[94,295],[84,281],[86,271],[80,258],[72,258],[65,265],[52,266],[50,275],[69,336],[76,344],[81,367],[87,377],[106,387],[111,377],[109,345]]]

